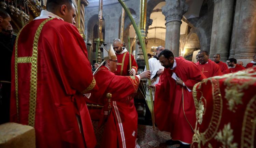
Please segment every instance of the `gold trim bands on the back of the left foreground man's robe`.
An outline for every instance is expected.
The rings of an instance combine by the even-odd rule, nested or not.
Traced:
[[[18,63],[31,63],[30,72],[30,93],[29,93],[29,114],[28,114],[28,125],[34,127],[35,124],[35,108],[37,105],[37,60],[38,60],[38,40],[44,24],[54,18],[44,20],[35,32],[33,41],[33,50],[31,57],[18,57],[18,37],[15,44],[15,91],[16,91],[16,105],[17,105],[17,116],[18,116]]]

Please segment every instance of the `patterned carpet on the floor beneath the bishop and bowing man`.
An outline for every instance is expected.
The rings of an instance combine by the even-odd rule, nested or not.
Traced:
[[[96,148],[100,147],[103,128],[98,129],[98,122],[92,121],[94,132],[97,139]],[[138,125],[138,144],[141,148],[176,148],[179,145],[167,146],[165,142],[171,139],[168,132],[159,131],[158,128],[153,130],[152,126]]]

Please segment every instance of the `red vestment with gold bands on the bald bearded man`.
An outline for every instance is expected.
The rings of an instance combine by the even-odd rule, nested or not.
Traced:
[[[117,71],[115,72],[118,76],[129,76],[128,70],[130,69],[129,66],[129,52],[125,52],[123,54],[116,54],[117,57]],[[131,54],[131,68],[138,72],[138,65]]]

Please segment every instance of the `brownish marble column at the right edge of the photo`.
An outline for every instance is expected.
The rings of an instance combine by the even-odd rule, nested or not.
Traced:
[[[249,63],[256,54],[256,0],[237,1],[239,17],[234,44],[234,58]],[[237,9],[236,9],[237,10]]]

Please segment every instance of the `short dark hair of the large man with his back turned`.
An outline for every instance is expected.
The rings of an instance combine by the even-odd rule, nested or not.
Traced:
[[[52,11],[58,8],[58,6],[66,4],[67,6],[71,6],[73,3],[72,0],[47,0],[46,2],[46,10]],[[74,4],[75,5],[75,4]]]

